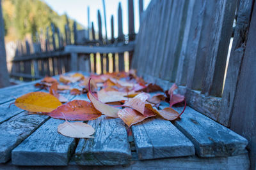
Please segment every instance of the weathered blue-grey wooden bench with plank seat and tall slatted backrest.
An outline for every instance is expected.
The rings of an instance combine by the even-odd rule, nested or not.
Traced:
[[[63,120],[44,115],[28,115],[15,106],[8,108],[14,100],[12,96],[18,97],[38,90],[33,87],[33,81],[1,89],[0,107],[3,111],[0,113],[0,167],[255,168],[255,124],[248,125],[246,122],[250,118],[255,122],[255,116],[252,117],[255,111],[248,105],[253,100],[248,102],[243,95],[244,88],[253,87],[248,85],[255,83],[256,74],[253,69],[256,62],[248,58],[250,53],[255,52],[252,47],[255,33],[252,30],[256,25],[256,13],[254,11],[251,15],[252,10],[253,1],[249,0],[239,1],[239,8],[235,1],[224,0],[150,2],[141,18],[131,67],[137,69],[145,80],[161,85],[164,90],[177,83],[179,93],[186,96],[189,106],[182,119],[175,122],[148,118],[143,123],[133,125],[132,137],[127,136],[127,127],[119,118],[100,117],[88,122],[95,127],[95,136],[98,138],[66,138],[56,131]],[[223,90],[235,12],[236,29]],[[100,53],[114,53],[108,51],[108,48],[98,50]],[[72,48],[67,46],[66,50],[68,49]],[[70,52],[71,63],[76,65],[79,64],[77,56],[83,53],[89,56],[92,53],[92,48],[80,46],[77,49],[73,48]],[[129,46],[128,51],[130,50],[132,53]],[[88,59],[90,57],[86,58]],[[90,62],[86,64],[90,68]],[[254,79],[247,80],[250,71],[255,73],[250,74]],[[76,87],[76,83],[73,86]],[[250,89],[246,95],[253,97],[253,92],[255,89]],[[69,100],[88,100],[86,96],[66,97]],[[161,103],[160,107],[163,108],[164,104],[166,103]],[[241,109],[242,104],[248,108]],[[241,117],[243,111],[252,113]],[[243,122],[239,122],[240,119]],[[227,127],[249,139],[251,167],[246,150],[248,140]]]

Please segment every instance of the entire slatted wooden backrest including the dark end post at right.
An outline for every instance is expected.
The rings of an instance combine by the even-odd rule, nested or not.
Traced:
[[[165,89],[177,83],[189,106],[247,138],[251,168],[255,169],[253,2],[152,0],[141,18],[132,68]]]

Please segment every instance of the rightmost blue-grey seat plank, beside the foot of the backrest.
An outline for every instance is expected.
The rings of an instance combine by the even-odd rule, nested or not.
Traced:
[[[245,138],[188,106],[174,125],[193,142],[199,157],[227,157],[247,152]]]

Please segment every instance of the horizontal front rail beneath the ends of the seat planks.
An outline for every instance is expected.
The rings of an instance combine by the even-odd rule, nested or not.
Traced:
[[[20,166],[14,166],[11,162],[0,164],[1,169],[20,170]],[[63,169],[63,166],[32,166],[24,167],[25,169]],[[93,166],[95,169],[250,169],[250,160],[248,154],[244,153],[232,157],[215,157],[215,158],[198,158],[193,157],[178,157],[169,159],[155,160],[135,160],[128,166]],[[79,166],[76,162],[70,161],[67,170],[73,169],[92,169],[92,166]]]

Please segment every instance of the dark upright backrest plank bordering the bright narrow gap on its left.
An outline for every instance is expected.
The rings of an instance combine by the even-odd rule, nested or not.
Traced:
[[[209,49],[207,49],[205,55],[205,76],[202,93],[206,96],[221,96],[228,47],[236,11],[236,1],[218,1],[214,4],[209,1],[207,3],[209,3],[206,5],[207,8],[211,6],[211,9],[206,10],[206,15],[210,17],[205,20],[204,26],[207,27],[207,33],[205,32],[205,34],[211,35],[207,42],[211,43],[207,45],[207,42],[204,42],[204,49],[205,47]],[[212,33],[209,32],[209,27],[212,27]]]

